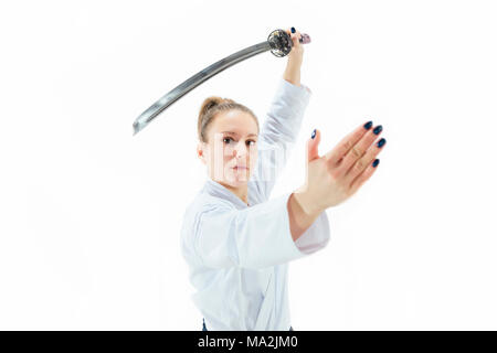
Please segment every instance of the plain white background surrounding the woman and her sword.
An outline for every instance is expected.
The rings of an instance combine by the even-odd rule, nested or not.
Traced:
[[[497,329],[497,11],[493,1],[9,1],[0,6],[0,329],[200,330],[180,252],[207,175],[210,95],[263,121],[286,58],[220,73],[133,136],[208,65],[295,26],[313,90],[273,196],[360,124],[373,176],[290,264],[295,330]]]

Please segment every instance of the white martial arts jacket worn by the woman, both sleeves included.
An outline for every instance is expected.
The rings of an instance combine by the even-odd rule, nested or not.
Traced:
[[[292,192],[268,201],[282,167],[276,168],[282,158],[274,151],[283,150],[286,160],[310,95],[306,86],[281,78],[256,143],[258,161],[248,181],[248,205],[208,179],[184,213],[182,254],[197,289],[192,299],[208,330],[287,331],[287,263],[328,244],[326,212],[294,242],[287,211]],[[276,176],[261,176],[261,165],[276,171]]]

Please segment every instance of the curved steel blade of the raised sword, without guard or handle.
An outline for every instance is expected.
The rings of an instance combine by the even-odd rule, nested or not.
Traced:
[[[223,69],[244,61],[245,58],[264,53],[266,51],[269,51],[271,49],[272,49],[271,44],[267,41],[248,46],[244,50],[241,50],[230,56],[220,60],[219,62],[202,69],[198,74],[191,76],[181,85],[177,86],[171,92],[162,96],[162,98],[160,98],[154,105],[151,105],[150,108],[141,113],[141,115],[133,124],[133,128],[135,130],[134,135],[141,131],[161,111],[167,109],[176,100],[184,96],[187,93],[189,93],[190,90],[192,90],[207,79],[219,74]]]

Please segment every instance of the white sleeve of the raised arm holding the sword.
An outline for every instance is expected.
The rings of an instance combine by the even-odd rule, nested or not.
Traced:
[[[296,86],[281,78],[258,136],[258,161],[253,175],[265,200],[269,197],[288,153],[297,141],[310,96],[307,86]]]

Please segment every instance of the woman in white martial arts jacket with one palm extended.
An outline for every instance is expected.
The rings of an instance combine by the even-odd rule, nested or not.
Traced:
[[[210,97],[199,114],[198,157],[209,179],[184,213],[181,242],[203,330],[293,330],[287,263],[328,244],[325,210],[372,175],[384,145],[370,148],[382,128],[369,121],[319,157],[314,130],[307,183],[268,201],[311,94],[300,84],[300,33],[287,32],[294,46],[261,131],[255,115],[231,99]]]

